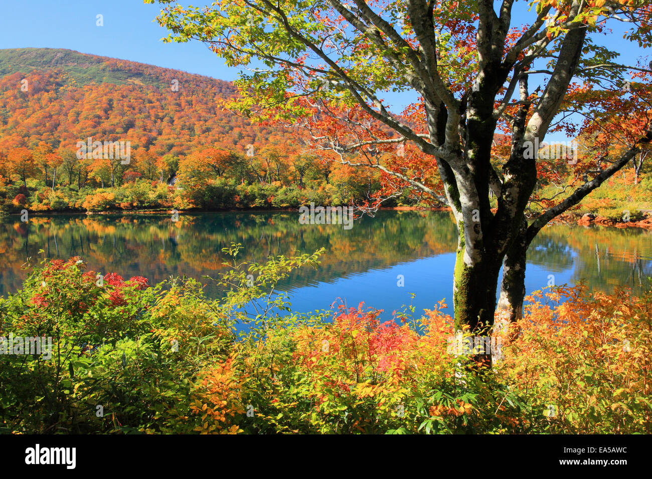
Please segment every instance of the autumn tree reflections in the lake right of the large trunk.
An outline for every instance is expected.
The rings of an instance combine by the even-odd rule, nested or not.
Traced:
[[[640,228],[555,225],[541,230],[527,250],[529,262],[561,271],[574,264],[572,282],[589,289],[649,289],[652,276],[652,231]]]

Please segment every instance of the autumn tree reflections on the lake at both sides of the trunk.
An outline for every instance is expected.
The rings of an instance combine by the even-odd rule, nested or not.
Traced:
[[[29,256],[37,261],[41,249],[52,258],[80,255],[100,272],[159,282],[170,275],[216,274],[224,269],[222,248],[232,242],[243,244],[248,261],[325,248],[319,269],[300,270],[282,284],[298,287],[453,252],[457,233],[448,213],[414,211],[381,211],[350,230],[301,225],[298,212],[182,214],[178,222],[149,214],[31,217],[27,223],[5,217],[0,293],[20,287],[26,275],[21,265]],[[554,225],[533,240],[527,261],[551,272],[572,269],[573,282],[584,278],[597,289],[631,285],[638,292],[652,275],[652,232]]]

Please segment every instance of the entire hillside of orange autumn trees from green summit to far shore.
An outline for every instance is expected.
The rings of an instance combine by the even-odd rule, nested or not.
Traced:
[[[0,211],[268,209],[364,202],[353,174],[224,107],[228,81],[72,50],[0,50]],[[130,158],[78,142],[128,142]]]

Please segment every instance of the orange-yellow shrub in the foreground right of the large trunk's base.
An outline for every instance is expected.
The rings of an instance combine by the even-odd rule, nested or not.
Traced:
[[[524,430],[650,433],[650,293],[590,297],[580,285],[528,299],[499,368],[527,403]]]

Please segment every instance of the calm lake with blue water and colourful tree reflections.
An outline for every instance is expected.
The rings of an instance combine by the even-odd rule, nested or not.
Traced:
[[[243,244],[244,259],[312,253],[325,248],[321,267],[298,270],[281,284],[293,310],[328,309],[334,301],[384,310],[413,304],[417,312],[445,298],[452,313],[452,269],[457,233],[448,212],[387,211],[342,225],[300,224],[299,212],[215,212],[171,215],[59,215],[0,218],[0,294],[20,288],[27,257],[82,256],[89,269],[150,283],[186,274],[202,280],[224,270],[222,248]],[[591,291],[626,285],[649,289],[652,232],[642,229],[552,225],[527,254],[527,293],[584,280]],[[404,286],[400,287],[402,275]],[[203,282],[208,280],[203,279]],[[220,292],[207,285],[209,295]],[[410,294],[416,296],[411,300]]]

